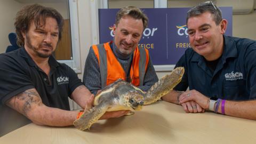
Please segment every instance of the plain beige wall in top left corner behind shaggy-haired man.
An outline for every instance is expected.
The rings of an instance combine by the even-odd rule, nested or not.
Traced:
[[[10,45],[8,35],[14,32],[15,15],[20,9],[21,4],[13,0],[0,0],[0,53],[5,52]]]

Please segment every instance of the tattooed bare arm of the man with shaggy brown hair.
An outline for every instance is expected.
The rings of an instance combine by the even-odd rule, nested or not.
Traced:
[[[45,106],[35,89],[29,89],[15,95],[6,102],[6,105],[38,125],[72,125],[77,115],[76,111],[67,111]]]

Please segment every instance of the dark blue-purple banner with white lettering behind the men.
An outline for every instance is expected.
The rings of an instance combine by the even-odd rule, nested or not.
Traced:
[[[148,18],[140,46],[149,50],[154,65],[175,65],[188,47],[186,17],[189,7],[142,9]],[[232,7],[220,7],[222,17],[228,20],[226,34],[232,36]],[[99,9],[100,43],[113,39],[112,27],[119,9]]]

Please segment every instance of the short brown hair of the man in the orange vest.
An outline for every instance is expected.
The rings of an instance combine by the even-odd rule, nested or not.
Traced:
[[[135,6],[126,6],[123,9],[120,9],[116,13],[116,22],[115,22],[116,26],[118,25],[119,21],[127,15],[131,16],[134,19],[141,19],[143,22],[143,29],[147,28],[148,26],[147,15]]]

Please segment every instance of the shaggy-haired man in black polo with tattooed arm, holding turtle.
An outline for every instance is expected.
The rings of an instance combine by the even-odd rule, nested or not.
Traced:
[[[38,125],[73,125],[78,112],[70,111],[68,97],[85,109],[94,97],[73,69],[52,56],[61,38],[62,16],[50,7],[28,5],[17,13],[14,25],[22,48],[0,55],[1,131],[2,125],[20,126],[21,119],[10,119],[17,111]],[[101,118],[126,113],[106,113]]]

